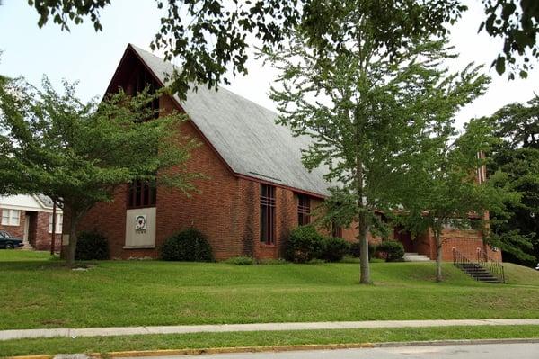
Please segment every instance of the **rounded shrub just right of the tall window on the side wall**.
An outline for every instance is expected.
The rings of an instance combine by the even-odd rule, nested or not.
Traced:
[[[323,236],[314,226],[300,226],[290,232],[284,254],[290,262],[305,263],[320,256],[322,248]]]

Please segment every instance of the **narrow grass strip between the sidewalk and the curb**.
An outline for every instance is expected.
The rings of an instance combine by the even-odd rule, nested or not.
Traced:
[[[0,342],[0,356],[234,346],[359,344],[432,339],[531,338],[538,336],[539,326],[482,326],[194,333],[122,337],[55,337]],[[107,355],[103,355],[103,357],[106,358]]]

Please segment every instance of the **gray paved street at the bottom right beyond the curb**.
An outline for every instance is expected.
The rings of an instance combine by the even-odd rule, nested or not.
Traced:
[[[188,356],[189,357],[189,356]],[[160,359],[185,359],[161,356]],[[537,359],[539,344],[482,344],[464,346],[400,346],[282,353],[199,355],[198,359]],[[137,359],[142,359],[138,357]]]

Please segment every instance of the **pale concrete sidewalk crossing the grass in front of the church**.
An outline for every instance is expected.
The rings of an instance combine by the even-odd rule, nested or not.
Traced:
[[[162,327],[57,328],[0,330],[0,340],[32,337],[113,337],[137,334],[223,333],[243,331],[420,328],[450,326],[517,326],[539,325],[539,319],[451,319],[451,320],[372,320],[325,321],[311,323],[210,324]]]

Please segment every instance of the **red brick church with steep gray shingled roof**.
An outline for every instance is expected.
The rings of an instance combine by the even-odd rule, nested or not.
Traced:
[[[128,45],[107,94],[119,87],[127,94],[146,85],[159,88],[173,68]],[[223,87],[214,91],[199,86],[185,102],[163,95],[158,106],[163,112],[189,116],[180,130],[201,144],[185,165],[188,172],[206,176],[196,180],[198,191],[187,197],[167,188],[126,184],[113,202],[95,205],[78,230],[102,232],[109,238],[113,258],[157,257],[166,238],[190,227],[208,236],[216,259],[278,258],[290,229],[308,223],[311,210],[329,194],[323,169],[309,173],[302,165],[301,148],[309,139],[292,137],[287,128],[275,124],[275,112]],[[332,231],[349,241],[356,237],[356,229]],[[429,233],[411,240],[409,234],[395,230],[394,237],[408,252],[436,256]],[[451,259],[452,247],[467,256],[475,256],[481,247],[500,257],[483,245],[479,231],[448,229],[445,238],[445,260]]]

